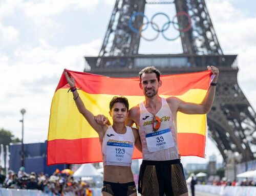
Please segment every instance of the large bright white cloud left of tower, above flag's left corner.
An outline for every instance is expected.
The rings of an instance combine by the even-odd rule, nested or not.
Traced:
[[[83,70],[83,56],[97,55],[101,43],[100,40],[94,40],[90,43],[58,49],[41,38],[40,42],[42,43],[40,47],[16,49],[15,59],[12,61],[8,60],[7,56],[3,61],[0,59],[0,64],[5,65],[5,73],[0,78],[1,83],[8,81],[10,88],[19,88],[29,93],[31,87],[30,89],[26,87],[46,78],[55,81],[53,78],[59,78],[64,68]]]

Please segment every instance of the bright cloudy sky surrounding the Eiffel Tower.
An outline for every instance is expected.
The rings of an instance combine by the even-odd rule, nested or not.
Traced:
[[[224,54],[238,54],[238,82],[256,108],[256,3],[205,2]],[[0,1],[0,128],[21,138],[20,110],[25,108],[24,142],[47,140],[51,101],[62,71],[82,72],[84,56],[98,55],[114,4],[114,0]],[[172,6],[146,6],[149,17],[156,12],[168,13],[170,18],[175,15]],[[142,39],[139,53],[182,53],[181,42],[161,36],[156,41]],[[221,161],[217,148],[210,141],[208,145],[208,155],[216,154]]]

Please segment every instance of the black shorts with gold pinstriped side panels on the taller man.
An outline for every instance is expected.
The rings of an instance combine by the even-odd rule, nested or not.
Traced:
[[[144,196],[176,196],[188,192],[180,160],[143,160],[140,166],[138,191]]]

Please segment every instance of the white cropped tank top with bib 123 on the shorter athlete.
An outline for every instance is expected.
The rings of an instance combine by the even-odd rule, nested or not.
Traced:
[[[112,126],[109,126],[102,141],[103,166],[131,166],[134,143],[131,127],[126,126],[125,134],[118,134]]]

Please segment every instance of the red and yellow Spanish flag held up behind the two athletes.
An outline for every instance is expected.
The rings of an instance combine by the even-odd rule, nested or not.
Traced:
[[[144,101],[139,77],[112,78],[67,70],[75,79],[79,96],[94,115],[103,114],[110,120],[109,102],[116,95],[125,96],[130,107]],[[159,95],[178,97],[186,102],[201,103],[211,81],[210,71],[162,75]],[[62,73],[53,96],[48,132],[47,164],[101,162],[98,134],[78,112],[73,94]],[[206,115],[177,116],[178,146],[181,156],[205,157],[207,136]],[[141,158],[135,149],[133,159]]]

